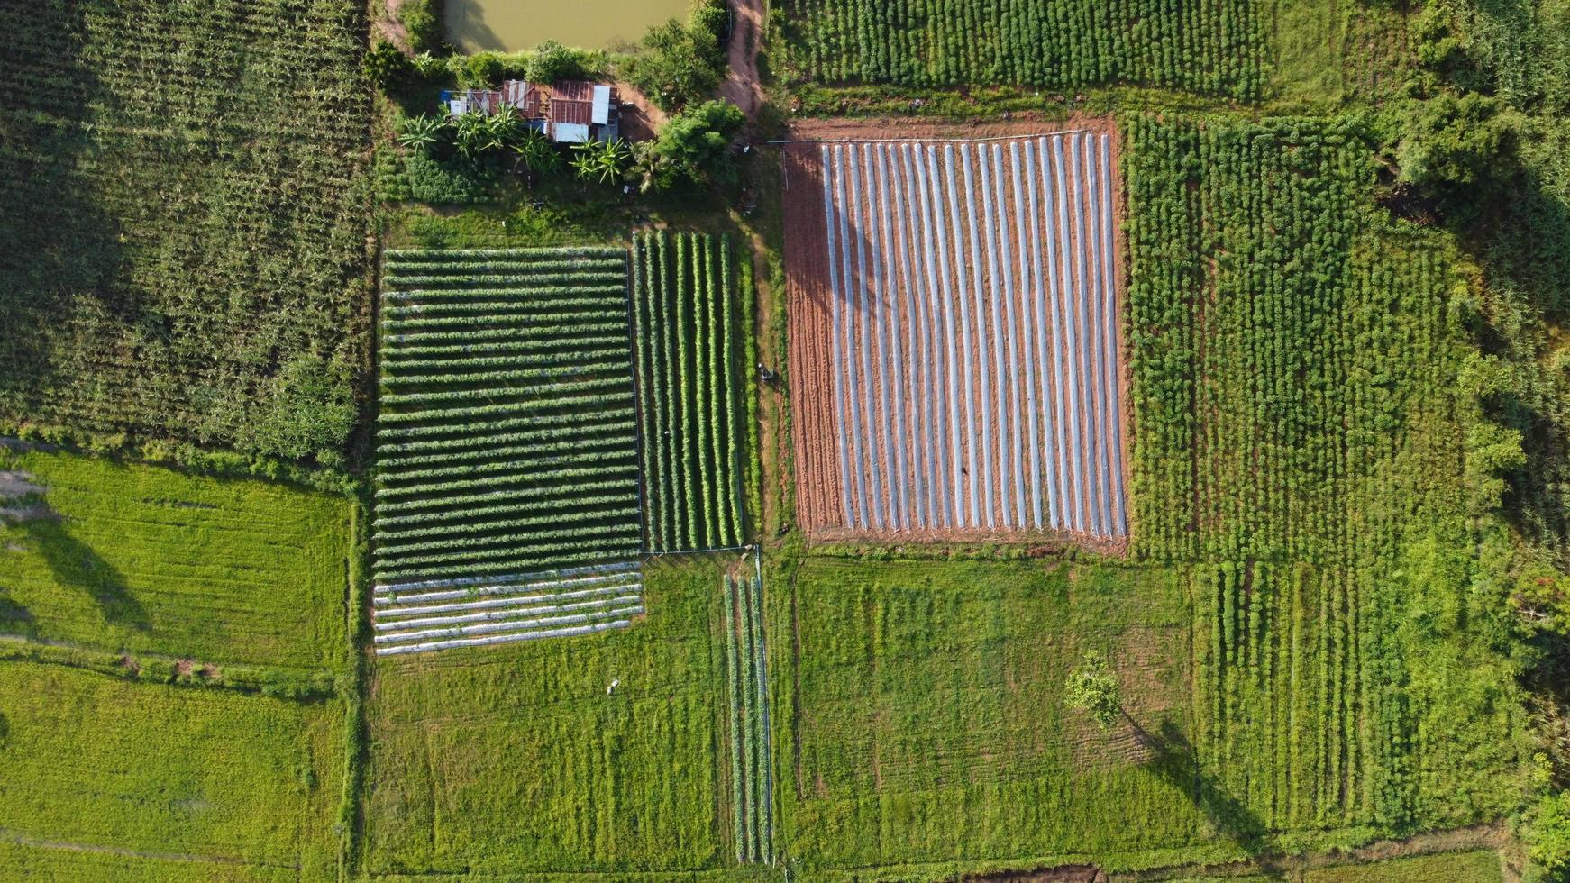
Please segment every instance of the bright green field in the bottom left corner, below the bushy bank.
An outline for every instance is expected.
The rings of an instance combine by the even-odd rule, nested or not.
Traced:
[[[336,874],[338,704],[0,662],[0,841],[35,844],[0,844],[0,874],[30,867],[41,878],[72,878],[118,867],[69,845],[220,863],[124,863],[146,878]]]

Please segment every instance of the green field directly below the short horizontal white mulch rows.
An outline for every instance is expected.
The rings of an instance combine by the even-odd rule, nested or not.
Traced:
[[[648,613],[620,632],[378,659],[361,867],[501,875],[728,863],[721,568],[650,566]]]

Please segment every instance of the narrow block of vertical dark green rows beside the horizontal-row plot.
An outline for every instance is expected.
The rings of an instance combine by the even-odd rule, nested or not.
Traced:
[[[730,242],[637,235],[633,298],[648,549],[738,546],[746,532],[741,378],[750,304],[738,298]]]

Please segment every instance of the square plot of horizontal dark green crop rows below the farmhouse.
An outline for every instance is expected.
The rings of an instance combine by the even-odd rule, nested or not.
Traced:
[[[637,555],[626,253],[391,251],[385,285],[378,583]]]

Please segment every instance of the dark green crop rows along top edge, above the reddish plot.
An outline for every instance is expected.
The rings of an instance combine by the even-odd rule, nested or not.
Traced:
[[[785,0],[788,67],[832,83],[1138,83],[1256,99],[1254,0]]]

